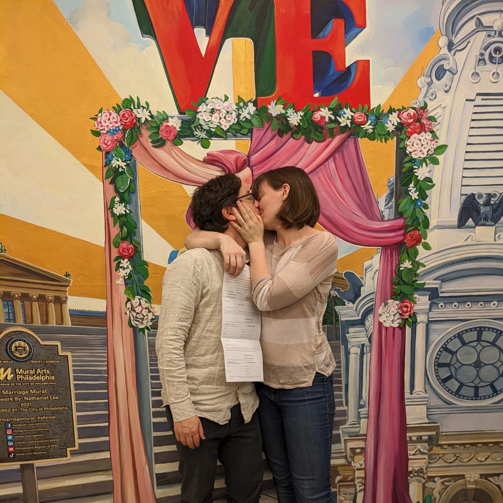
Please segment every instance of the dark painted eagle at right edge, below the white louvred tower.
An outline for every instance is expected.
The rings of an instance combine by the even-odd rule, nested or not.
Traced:
[[[492,226],[503,216],[503,193],[490,194],[477,192],[468,194],[461,203],[458,213],[458,229],[471,218],[475,226]]]

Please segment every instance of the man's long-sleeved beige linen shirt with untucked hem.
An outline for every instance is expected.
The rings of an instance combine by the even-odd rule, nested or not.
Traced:
[[[198,415],[221,425],[240,403],[245,423],[259,405],[252,382],[226,382],[222,330],[223,258],[195,248],[167,266],[155,341],[163,405],[174,421]]]

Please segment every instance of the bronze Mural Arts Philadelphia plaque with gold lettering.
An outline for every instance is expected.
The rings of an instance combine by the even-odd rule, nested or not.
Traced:
[[[0,464],[69,459],[77,449],[70,353],[31,330],[0,334]]]

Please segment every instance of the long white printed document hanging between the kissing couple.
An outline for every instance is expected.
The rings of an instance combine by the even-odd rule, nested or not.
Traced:
[[[224,273],[220,338],[227,382],[264,380],[260,311],[251,300],[249,266],[237,278]]]

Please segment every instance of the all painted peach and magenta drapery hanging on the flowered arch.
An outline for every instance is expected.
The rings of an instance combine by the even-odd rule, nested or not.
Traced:
[[[148,170],[167,180],[189,185],[202,185],[228,172],[250,181],[250,167],[255,176],[285,165],[301,167],[318,191],[321,203],[319,222],[326,230],[354,244],[382,247],[374,312],[377,313],[381,303],[391,297],[391,280],[404,234],[403,219],[381,219],[358,140],[349,138],[347,133],[308,144],[290,136],[279,138],[268,128],[254,129],[248,154],[250,167],[242,162],[242,155],[236,151],[210,153],[205,162],[184,153],[172,142],[156,149],[150,145],[147,134],[140,136],[132,149],[136,160]],[[125,298],[122,287],[115,284],[115,250],[111,244],[115,229],[108,211],[112,188],[105,180],[104,188],[114,501],[153,503],[155,496],[140,440],[133,334],[123,314]],[[410,503],[403,388],[404,346],[404,329],[384,327],[375,314],[364,503]],[[135,439],[133,445],[131,438]]]

